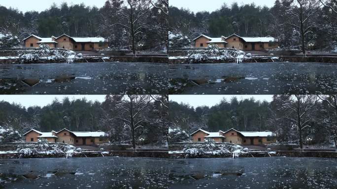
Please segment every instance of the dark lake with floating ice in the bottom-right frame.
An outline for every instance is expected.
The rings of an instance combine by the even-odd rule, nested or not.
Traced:
[[[171,159],[170,189],[337,189],[334,158]]]

